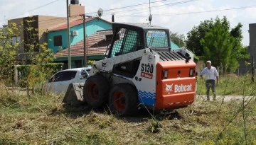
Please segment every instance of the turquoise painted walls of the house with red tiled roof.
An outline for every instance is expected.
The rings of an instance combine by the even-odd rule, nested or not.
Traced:
[[[107,23],[105,21],[101,21],[100,19],[95,19],[89,22],[85,23],[85,33],[87,36],[92,35],[93,33],[96,33],[97,30],[109,30],[112,29],[112,25],[110,23]],[[70,45],[74,45],[77,42],[80,42],[80,40],[83,40],[83,24],[76,25],[73,28],[70,28],[70,32],[73,30],[78,31],[77,36],[71,36],[70,35]],[[62,42],[63,45],[61,46],[62,49],[65,49],[68,47],[68,35],[67,30],[60,30],[60,31],[53,31],[48,33],[48,48],[52,49],[53,52],[57,52],[57,50],[60,48],[59,46],[54,46],[54,36],[62,35]]]

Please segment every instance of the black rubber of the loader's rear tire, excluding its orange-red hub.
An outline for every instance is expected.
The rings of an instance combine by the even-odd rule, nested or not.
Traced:
[[[115,92],[122,92],[125,98],[125,108],[122,111],[117,110],[114,107],[114,93]],[[112,113],[119,116],[133,116],[136,115],[139,110],[139,100],[138,100],[138,93],[137,89],[134,88],[129,83],[118,83],[115,85],[111,91],[109,96],[109,106]]]

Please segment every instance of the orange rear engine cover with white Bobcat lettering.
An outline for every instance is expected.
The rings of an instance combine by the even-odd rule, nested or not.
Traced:
[[[193,74],[191,75],[191,69]],[[167,77],[163,77],[164,71]],[[196,64],[174,61],[156,64],[156,109],[191,105],[195,100]],[[166,75],[165,74],[165,75]]]

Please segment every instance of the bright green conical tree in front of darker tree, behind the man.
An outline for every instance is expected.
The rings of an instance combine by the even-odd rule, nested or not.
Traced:
[[[217,17],[213,23],[213,28],[201,40],[204,52],[203,59],[210,59],[215,66],[220,66],[222,63],[225,67],[237,69],[238,60],[233,55],[234,51],[237,51],[235,42],[235,37],[230,35],[227,19],[220,20]]]

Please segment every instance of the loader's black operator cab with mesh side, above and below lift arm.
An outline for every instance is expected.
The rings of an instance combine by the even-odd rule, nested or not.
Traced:
[[[151,48],[157,52],[171,50],[169,29],[140,23],[113,23],[112,43],[107,49],[107,58]],[[114,65],[113,73],[133,78],[140,59]]]

